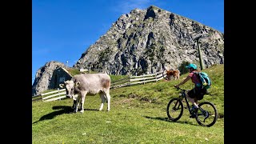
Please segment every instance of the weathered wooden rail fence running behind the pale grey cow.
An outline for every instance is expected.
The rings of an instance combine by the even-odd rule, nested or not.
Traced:
[[[128,78],[122,78],[122,79],[118,79],[117,81],[111,82],[110,89],[115,89],[123,86],[145,84],[146,82],[158,82],[159,80],[165,77],[166,77],[166,74],[163,71],[158,72],[156,74],[129,76]],[[42,99],[43,102],[50,102],[58,99],[61,100],[62,98],[66,98],[66,89],[54,90],[48,93],[38,94],[32,97],[32,101]]]

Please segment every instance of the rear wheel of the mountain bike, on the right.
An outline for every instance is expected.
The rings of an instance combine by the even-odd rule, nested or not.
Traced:
[[[196,120],[201,126],[213,126],[217,121],[218,112],[214,104],[211,102],[202,102],[198,104],[198,112],[196,114]]]

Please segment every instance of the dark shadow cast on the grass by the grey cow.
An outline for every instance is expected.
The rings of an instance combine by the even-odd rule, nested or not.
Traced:
[[[53,110],[58,110],[58,111],[54,111],[50,114],[46,114],[42,116],[37,122],[53,119],[57,115],[61,115],[61,114],[74,114],[74,109],[72,109],[71,106],[53,106]],[[84,110],[95,110],[95,109],[84,109]],[[98,110],[95,110],[95,111],[98,111]],[[37,122],[33,122],[32,124]]]

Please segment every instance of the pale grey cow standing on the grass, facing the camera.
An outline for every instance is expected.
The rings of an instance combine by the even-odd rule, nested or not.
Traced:
[[[78,111],[78,102],[81,104],[81,113],[84,112],[86,94],[100,94],[102,104],[107,101],[107,110],[110,110],[110,76],[108,74],[77,74],[70,81],[59,85],[66,88],[66,97],[74,99],[74,112]]]

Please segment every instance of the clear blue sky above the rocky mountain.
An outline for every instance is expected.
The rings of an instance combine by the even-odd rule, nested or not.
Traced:
[[[32,84],[46,62],[73,66],[122,14],[151,5],[224,33],[224,0],[32,0]]]

